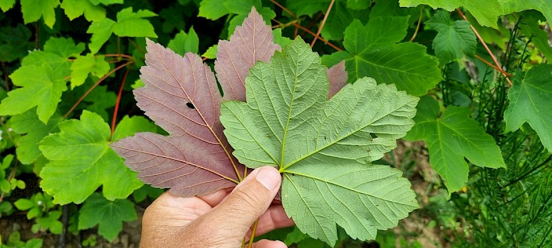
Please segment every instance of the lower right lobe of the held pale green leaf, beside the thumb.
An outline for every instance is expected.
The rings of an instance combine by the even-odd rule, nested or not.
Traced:
[[[319,163],[286,172],[286,214],[302,232],[332,246],[337,240],[335,224],[351,238],[374,240],[377,229],[396,227],[418,207],[408,179],[386,165]]]

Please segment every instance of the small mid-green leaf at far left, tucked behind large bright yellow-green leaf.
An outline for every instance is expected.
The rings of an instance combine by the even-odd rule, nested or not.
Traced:
[[[39,149],[39,142],[42,138],[48,136],[48,134],[57,132],[57,124],[63,118],[59,114],[54,114],[48,121],[48,124],[44,124],[39,120],[36,110],[28,110],[23,114],[13,116],[12,129],[17,134],[26,134],[19,138],[16,145],[17,158],[23,165],[30,165],[30,163],[37,160],[41,154]]]

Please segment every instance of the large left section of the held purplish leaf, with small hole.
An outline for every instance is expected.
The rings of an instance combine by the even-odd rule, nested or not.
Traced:
[[[244,166],[231,155],[219,121],[221,96],[210,68],[197,54],[184,58],[147,41],[145,87],[134,91],[137,105],[170,136],[139,133],[111,147],[138,177],[178,196],[209,194],[233,187]]]

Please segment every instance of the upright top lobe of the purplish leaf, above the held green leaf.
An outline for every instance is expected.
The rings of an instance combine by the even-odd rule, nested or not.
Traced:
[[[270,61],[275,50],[280,50],[280,46],[274,43],[270,26],[253,7],[230,41],[219,41],[215,71],[224,99],[246,101],[245,79],[249,69],[257,61]]]

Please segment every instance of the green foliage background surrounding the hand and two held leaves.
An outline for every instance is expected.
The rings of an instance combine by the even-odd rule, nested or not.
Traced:
[[[117,240],[162,192],[108,147],[164,134],[131,92],[145,38],[213,65],[213,45],[251,6],[277,43],[300,35],[325,65],[345,60],[351,82],[373,76],[422,96],[406,139],[427,145],[385,159],[422,188],[412,221],[442,236],[424,247],[552,246],[552,3],[515,0],[0,0],[0,244]],[[11,226],[21,217],[23,238]],[[407,225],[377,242],[421,246]],[[322,245],[296,229],[270,236]],[[337,246],[354,245],[341,234]]]

